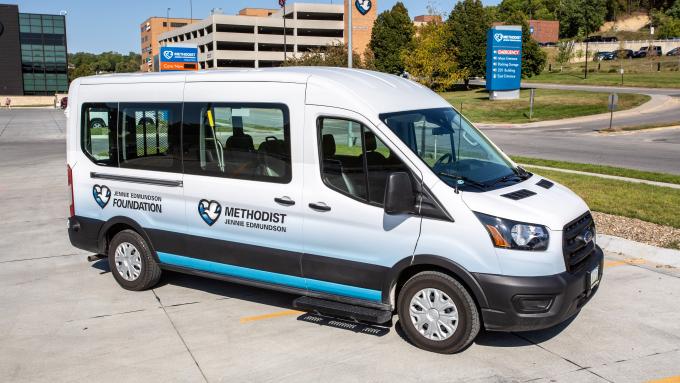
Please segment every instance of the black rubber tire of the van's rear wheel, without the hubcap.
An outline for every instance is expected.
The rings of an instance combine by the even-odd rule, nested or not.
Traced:
[[[139,251],[141,259],[141,271],[139,276],[132,281],[126,280],[118,272],[118,268],[116,267],[116,249],[120,244],[125,242],[132,244]],[[123,230],[113,237],[109,244],[108,258],[111,274],[113,274],[116,282],[126,290],[147,290],[155,286],[161,278],[161,268],[153,258],[149,245],[141,235],[133,230]]]

